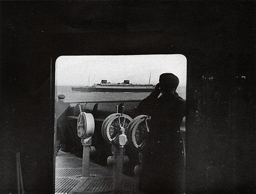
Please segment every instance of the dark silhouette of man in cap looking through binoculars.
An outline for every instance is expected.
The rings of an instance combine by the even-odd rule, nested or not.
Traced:
[[[184,193],[185,150],[180,125],[185,100],[176,93],[178,84],[174,74],[161,74],[155,90],[138,105],[140,115],[151,116],[139,181],[139,190],[145,193]]]

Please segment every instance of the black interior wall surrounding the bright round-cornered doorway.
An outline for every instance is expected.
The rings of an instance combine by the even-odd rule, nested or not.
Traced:
[[[53,192],[51,72],[58,56],[181,53],[188,62],[186,193],[253,193],[253,2],[0,5],[1,157],[5,161],[0,161],[0,190],[16,190],[15,153],[20,152],[25,190]]]

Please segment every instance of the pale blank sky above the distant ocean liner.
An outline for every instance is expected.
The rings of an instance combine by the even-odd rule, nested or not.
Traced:
[[[186,85],[186,57],[172,55],[60,56],[56,60],[56,85],[86,86],[130,80],[130,83],[158,83],[162,73],[173,73]],[[89,77],[90,75],[90,77]]]

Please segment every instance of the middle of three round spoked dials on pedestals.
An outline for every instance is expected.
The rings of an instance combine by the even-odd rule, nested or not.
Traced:
[[[102,123],[101,133],[105,141],[113,142],[123,127],[125,129],[124,134],[127,135],[127,127],[132,121],[132,118],[125,114],[115,113],[108,116]]]

